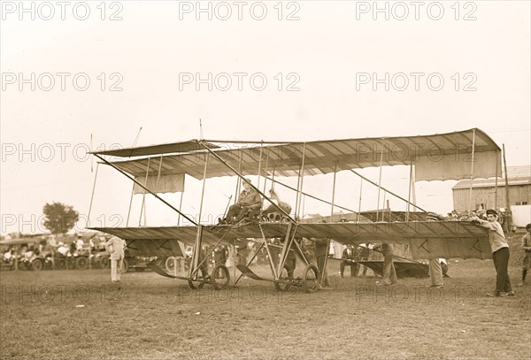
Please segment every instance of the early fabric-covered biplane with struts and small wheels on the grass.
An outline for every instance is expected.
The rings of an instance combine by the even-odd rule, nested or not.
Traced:
[[[90,227],[119,236],[127,241],[130,251],[142,256],[173,256],[182,253],[182,244],[193,246],[188,276],[176,276],[152,265],[161,275],[187,280],[189,287],[212,284],[216,289],[230,285],[230,275],[225,264],[218,264],[211,274],[204,273],[203,244],[212,248],[234,245],[235,241],[257,241],[258,249],[266,249],[271,277],[258,276],[246,264],[238,264],[242,275],[255,280],[273,282],[283,290],[291,286],[303,287],[312,292],[322,280],[315,264],[311,264],[301,249],[300,239],[333,239],[343,245],[360,243],[408,244],[413,259],[436,257],[480,258],[491,257],[487,231],[468,221],[447,221],[428,217],[428,211],[411,201],[411,187],[419,180],[460,180],[489,178],[500,172],[500,148],[489,135],[473,128],[448,134],[430,134],[400,137],[360,138],[313,142],[235,142],[220,140],[190,140],[129,149],[95,151],[98,165],[111,166],[134,182],[134,192],[155,196],[187,220],[184,226],[125,226]],[[111,158],[108,158],[111,157]],[[406,165],[410,171],[408,197],[402,197],[381,187],[381,180],[370,180],[356,170],[366,167]],[[335,203],[335,174],[350,172],[372,183],[380,191],[395,195],[407,204],[406,211],[389,212],[351,211]],[[331,200],[320,199],[304,190],[304,178],[320,174],[333,174],[334,188]],[[96,172],[97,174],[97,172]],[[184,179],[193,177],[203,181],[199,202],[199,219],[204,203],[207,180],[216,177],[235,177],[240,184],[246,176],[258,176],[264,183],[283,186],[296,193],[294,211],[287,213],[266,195],[266,185],[258,188],[251,184],[264,204],[273,204],[278,217],[264,217],[258,211],[239,224],[203,224],[190,218],[158,194],[183,191]],[[279,177],[296,177],[296,187],[278,180]],[[96,184],[96,179],[95,179]],[[348,186],[351,187],[351,184]],[[239,187],[239,185],[237,185]],[[238,194],[239,189],[236,189]],[[94,195],[94,194],[93,194]],[[310,196],[327,203],[334,209],[348,209],[350,221],[307,223],[301,220],[301,199]],[[91,203],[92,206],[92,203]],[[410,207],[415,211],[410,211]],[[90,210],[89,210],[90,213]],[[276,219],[276,220],[272,220]],[[280,249],[273,249],[269,239],[280,239]],[[272,254],[280,251],[278,261]],[[304,263],[302,276],[294,279],[288,257],[291,251]],[[325,266],[326,268],[326,266]],[[237,284],[238,278],[233,282]]]

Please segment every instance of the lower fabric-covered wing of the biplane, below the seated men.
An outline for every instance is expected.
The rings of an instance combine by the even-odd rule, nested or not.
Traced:
[[[288,224],[261,224],[266,238],[284,238]],[[142,256],[181,256],[178,241],[192,245],[196,241],[196,226],[166,227],[93,227],[93,230],[119,236],[130,249]],[[407,223],[327,223],[300,224],[296,237],[331,238],[348,244],[389,243],[409,244],[413,259],[492,257],[487,230],[467,221],[411,221]],[[228,234],[226,234],[228,233]],[[226,236],[224,236],[226,234]],[[436,235],[436,236],[435,236]],[[231,245],[235,239],[261,239],[258,224],[237,226],[204,226],[203,241]],[[173,253],[172,251],[175,251]]]

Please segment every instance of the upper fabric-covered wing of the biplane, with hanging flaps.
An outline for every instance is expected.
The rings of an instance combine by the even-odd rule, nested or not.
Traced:
[[[489,135],[477,128],[448,134],[273,144],[246,143],[243,146],[227,142],[217,147],[212,145],[212,142],[214,141],[184,142],[187,144],[186,149],[191,150],[181,153],[172,151],[179,148],[177,144],[180,143],[177,143],[165,144],[164,148],[151,146],[136,148],[135,151],[119,149],[95,154],[112,157],[144,156],[112,161],[120,170],[138,178],[145,177],[146,172],[155,176],[160,169],[162,175],[187,173],[196,179],[203,179],[206,161],[207,178],[234,176],[235,172],[227,165],[239,169],[243,175],[257,175],[260,160],[261,175],[274,170],[277,176],[297,176],[303,158],[304,175],[379,165],[414,164],[416,180],[461,180],[470,179],[472,163],[473,178],[493,177],[496,176],[496,169],[501,169],[498,156],[500,148]],[[149,157],[154,149],[161,151],[158,157]],[[227,165],[219,161],[218,157]]]

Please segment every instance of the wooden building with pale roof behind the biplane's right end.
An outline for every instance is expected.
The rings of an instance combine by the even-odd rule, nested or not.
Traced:
[[[513,205],[531,204],[531,165],[507,166],[509,200]],[[454,210],[466,211],[470,204],[470,180],[460,180],[452,189]],[[474,179],[472,182],[473,209],[504,208],[505,174],[497,179]],[[497,198],[497,202],[495,201]]]

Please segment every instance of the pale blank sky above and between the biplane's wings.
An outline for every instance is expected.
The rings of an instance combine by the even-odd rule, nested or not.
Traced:
[[[478,127],[504,145],[507,165],[531,164],[527,1],[1,1],[0,10],[3,235],[45,232],[42,207],[52,202],[80,212],[80,232],[88,218],[89,226],[143,224],[142,195],[127,223],[130,181],[89,149]],[[378,169],[363,173],[378,180]],[[408,176],[404,166],[382,169],[382,185],[407,197]],[[359,201],[353,174],[337,181],[336,203],[378,206],[368,184]],[[419,181],[417,203],[451,211],[455,183]],[[304,180],[304,191],[328,199],[332,187],[331,176]],[[200,189],[187,179],[183,211],[198,214]],[[208,181],[203,221],[222,214],[234,192],[234,178]],[[288,191],[281,197],[295,202]],[[145,224],[178,221],[146,202]],[[304,202],[305,213],[330,211]]]

